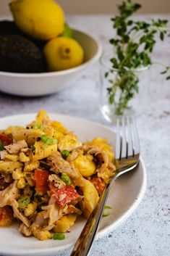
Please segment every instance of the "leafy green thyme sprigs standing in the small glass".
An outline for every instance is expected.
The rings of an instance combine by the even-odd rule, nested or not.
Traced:
[[[110,79],[111,87],[107,88],[109,103],[115,105],[115,114],[122,115],[128,108],[129,100],[138,93],[138,75],[135,70],[140,67],[149,67],[153,64],[150,54],[156,45],[156,36],[161,41],[168,35],[168,20],[151,20],[150,22],[135,21],[131,16],[140,9],[140,4],[133,4],[131,0],[123,1],[118,6],[119,15],[111,18],[116,37],[111,38],[110,43],[116,49],[116,54],[111,60],[109,74],[116,70],[116,79]],[[166,67],[162,74],[168,73],[170,67]],[[166,79],[170,79],[167,75]],[[119,100],[116,100],[116,92],[119,89]]]

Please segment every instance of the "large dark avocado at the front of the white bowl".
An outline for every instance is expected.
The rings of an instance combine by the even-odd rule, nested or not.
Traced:
[[[43,53],[23,36],[0,32],[0,70],[15,73],[43,72]]]

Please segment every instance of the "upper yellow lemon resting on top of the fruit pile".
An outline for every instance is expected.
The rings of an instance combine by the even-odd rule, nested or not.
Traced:
[[[64,32],[64,12],[54,0],[14,0],[14,22],[34,38],[49,40]]]

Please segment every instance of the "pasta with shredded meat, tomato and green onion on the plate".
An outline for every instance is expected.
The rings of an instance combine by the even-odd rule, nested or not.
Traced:
[[[0,227],[17,220],[39,240],[64,239],[79,215],[88,218],[116,170],[106,139],[80,142],[45,110],[0,131],[0,158]]]

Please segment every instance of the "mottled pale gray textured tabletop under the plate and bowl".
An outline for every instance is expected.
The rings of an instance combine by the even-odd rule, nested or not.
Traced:
[[[68,17],[74,28],[80,28],[98,38],[107,49],[111,38],[109,15]],[[169,18],[169,16],[164,16]],[[148,16],[145,16],[148,19]],[[170,65],[169,42],[159,42],[154,59]],[[170,244],[170,82],[151,70],[150,104],[137,119],[143,160],[148,170],[148,186],[143,202],[135,213],[108,236],[95,241],[91,256],[168,256]],[[0,116],[37,112],[42,107],[95,120],[108,125],[98,110],[98,67],[88,71],[72,88],[52,96],[20,98],[0,95]],[[67,256],[64,253],[59,256]]]

